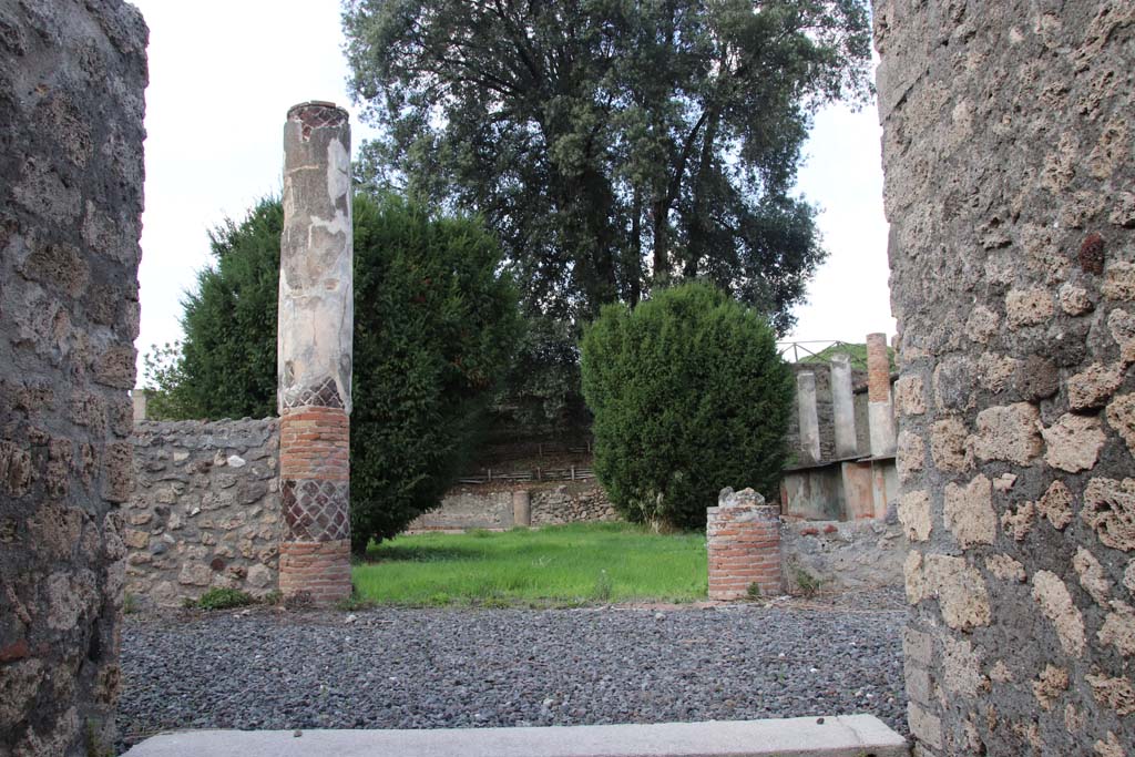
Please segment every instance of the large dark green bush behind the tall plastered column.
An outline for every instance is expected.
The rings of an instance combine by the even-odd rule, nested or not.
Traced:
[[[469,218],[356,195],[351,419],[353,548],[434,507],[481,430],[520,338],[501,249]],[[211,235],[215,266],[184,304],[180,354],[148,360],[166,418],[276,414],[279,200]]]

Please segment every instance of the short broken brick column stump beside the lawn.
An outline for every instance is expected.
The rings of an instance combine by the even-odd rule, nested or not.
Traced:
[[[753,489],[723,489],[706,515],[709,598],[742,599],[754,583],[760,596],[781,594],[780,507]]]

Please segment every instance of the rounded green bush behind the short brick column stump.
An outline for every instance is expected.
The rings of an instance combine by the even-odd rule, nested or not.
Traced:
[[[604,308],[582,342],[595,472],[625,518],[704,528],[726,486],[772,497],[792,372],[767,322],[703,283]]]

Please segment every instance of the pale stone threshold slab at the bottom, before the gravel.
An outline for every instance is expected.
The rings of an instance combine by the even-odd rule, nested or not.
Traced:
[[[823,720],[823,723],[818,722]],[[421,731],[178,731],[126,757],[908,757],[874,715]]]

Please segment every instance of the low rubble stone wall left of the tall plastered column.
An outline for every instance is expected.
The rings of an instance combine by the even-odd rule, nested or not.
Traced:
[[[276,419],[141,421],[124,510],[126,591],[175,606],[210,587],[277,588],[280,501]]]

